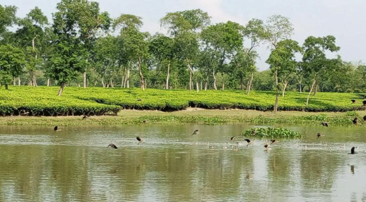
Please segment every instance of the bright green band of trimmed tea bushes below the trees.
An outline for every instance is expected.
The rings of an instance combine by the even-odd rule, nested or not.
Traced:
[[[116,115],[120,109],[177,111],[187,107],[205,109],[246,109],[271,111],[275,93],[241,90],[161,90],[139,88],[66,87],[57,96],[58,87],[10,86],[0,89],[0,115],[66,116]],[[279,110],[307,112],[347,112],[364,110],[363,95],[358,93],[318,92],[305,107],[307,93],[286,92],[280,97]],[[351,104],[356,99],[357,104]]]

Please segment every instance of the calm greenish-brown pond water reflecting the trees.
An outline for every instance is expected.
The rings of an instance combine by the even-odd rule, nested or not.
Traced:
[[[286,125],[304,137],[270,149],[251,127],[0,126],[0,201],[366,201],[363,126]]]

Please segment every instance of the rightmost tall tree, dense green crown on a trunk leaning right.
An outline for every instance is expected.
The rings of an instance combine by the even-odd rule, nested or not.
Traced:
[[[309,36],[303,44],[304,54],[302,57],[302,69],[304,73],[312,78],[313,82],[306,99],[306,106],[309,103],[309,97],[312,89],[316,85],[318,79],[327,70],[334,67],[335,59],[327,59],[325,51],[336,52],[340,47],[335,45],[336,38],[328,35],[326,37]],[[316,93],[317,89],[314,93]]]

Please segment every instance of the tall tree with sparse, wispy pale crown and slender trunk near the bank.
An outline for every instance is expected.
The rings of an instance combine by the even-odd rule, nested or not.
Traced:
[[[289,19],[280,15],[274,15],[268,18],[267,20],[266,32],[267,32],[267,40],[271,43],[272,49],[277,47],[277,43],[280,40],[287,39],[293,33],[293,26],[290,23]],[[278,102],[280,99],[280,86],[278,83],[278,69],[274,70],[275,75],[275,87],[277,89],[276,93],[276,101],[275,107],[273,109],[274,112],[277,112]]]

